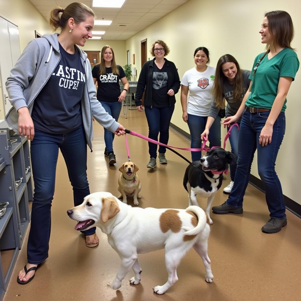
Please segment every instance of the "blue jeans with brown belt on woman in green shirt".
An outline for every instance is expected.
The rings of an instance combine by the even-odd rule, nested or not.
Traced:
[[[257,149],[257,166],[259,176],[265,186],[265,200],[270,217],[283,219],[285,204],[281,183],[275,172],[275,161],[285,133],[285,114],[277,117],[272,134],[272,142],[267,146],[259,144],[259,135],[268,118],[269,111],[250,113],[245,111],[240,122],[238,138],[237,169],[234,186],[226,201],[229,206],[241,207],[249,182],[251,164]]]

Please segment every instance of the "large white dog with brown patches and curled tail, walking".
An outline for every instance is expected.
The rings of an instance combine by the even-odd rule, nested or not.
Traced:
[[[79,221],[76,230],[97,226],[107,234],[108,242],[121,258],[121,265],[112,288],[121,287],[122,280],[132,268],[135,276],[130,284],[139,284],[141,268],[138,253],[165,249],[168,280],[154,292],[163,294],[177,280],[177,267],[192,247],[203,260],[208,283],[213,281],[207,242],[210,232],[206,214],[199,206],[187,209],[133,208],[109,192],[95,192],[84,198],[81,205],[67,211]],[[138,231],[137,231],[138,229]]]

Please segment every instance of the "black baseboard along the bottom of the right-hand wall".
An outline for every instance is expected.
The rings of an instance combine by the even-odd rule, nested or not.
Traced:
[[[190,134],[180,129],[178,126],[175,126],[173,123],[170,123],[170,127],[178,132],[181,136],[185,137],[188,140],[191,140]],[[250,175],[250,184],[259,189],[262,192],[265,192],[264,185],[259,178],[256,178],[254,175]],[[284,195],[284,203],[287,210],[294,213],[296,216],[301,218],[301,205],[296,203],[294,200]]]

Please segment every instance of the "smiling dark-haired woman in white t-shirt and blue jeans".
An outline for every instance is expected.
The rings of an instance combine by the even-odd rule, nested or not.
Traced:
[[[201,147],[201,133],[205,129],[209,110],[213,101],[213,81],[215,68],[210,67],[209,51],[198,47],[194,51],[196,67],[185,72],[181,81],[182,118],[188,123],[191,148]],[[187,101],[187,95],[189,97]],[[217,116],[209,133],[209,147],[221,146],[221,117]],[[191,152],[192,161],[200,160],[201,152]]]

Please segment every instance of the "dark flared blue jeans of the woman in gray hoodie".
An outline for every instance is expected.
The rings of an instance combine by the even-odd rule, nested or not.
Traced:
[[[59,149],[66,162],[69,180],[73,187],[74,206],[80,205],[84,197],[90,194],[86,173],[87,144],[84,129],[80,127],[67,134],[48,134],[36,130],[30,143],[35,186],[27,243],[27,260],[31,264],[41,263],[48,257],[50,211]],[[82,233],[91,235],[95,230],[96,228],[93,227]]]

